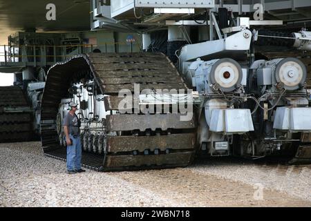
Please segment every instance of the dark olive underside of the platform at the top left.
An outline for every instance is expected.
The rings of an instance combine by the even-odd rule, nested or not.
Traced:
[[[56,21],[46,20],[46,6],[56,6]],[[90,30],[90,0],[0,0],[0,45],[18,31]]]

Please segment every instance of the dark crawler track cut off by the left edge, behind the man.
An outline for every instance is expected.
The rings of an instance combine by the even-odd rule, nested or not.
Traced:
[[[19,86],[0,87],[0,142],[24,142],[32,137],[32,115]]]

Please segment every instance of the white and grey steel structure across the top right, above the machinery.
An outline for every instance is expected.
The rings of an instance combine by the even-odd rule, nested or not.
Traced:
[[[91,2],[93,21],[91,27],[131,30],[151,30],[167,25],[202,26],[211,21],[212,15],[204,15],[206,10],[218,12],[226,8],[235,16],[249,15],[253,25],[261,25],[260,20],[281,20],[289,23],[284,28],[291,28],[294,23],[311,26],[309,1],[298,0],[201,0],[201,1],[150,1],[122,0]],[[262,14],[262,15],[261,15]],[[208,19],[206,19],[208,17]],[[268,21],[270,24],[274,21]],[[225,25],[226,26],[226,25]],[[297,26],[297,24],[296,24]],[[227,27],[220,27],[227,28]]]

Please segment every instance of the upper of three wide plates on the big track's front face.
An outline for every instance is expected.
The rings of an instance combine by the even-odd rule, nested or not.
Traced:
[[[146,131],[149,128],[152,131],[156,131],[157,128],[167,131],[169,128],[188,129],[196,127],[193,118],[190,121],[180,121],[180,116],[182,115],[107,115],[106,123],[108,131]]]

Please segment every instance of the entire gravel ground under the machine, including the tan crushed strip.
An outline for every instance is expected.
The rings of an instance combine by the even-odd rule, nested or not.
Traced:
[[[276,188],[279,174],[289,172],[269,170],[275,173],[267,175],[265,166],[204,163],[68,175],[65,162],[44,157],[40,142],[0,144],[0,206],[311,206],[310,168],[292,169],[297,175]],[[267,189],[263,200],[254,200],[257,182]]]

